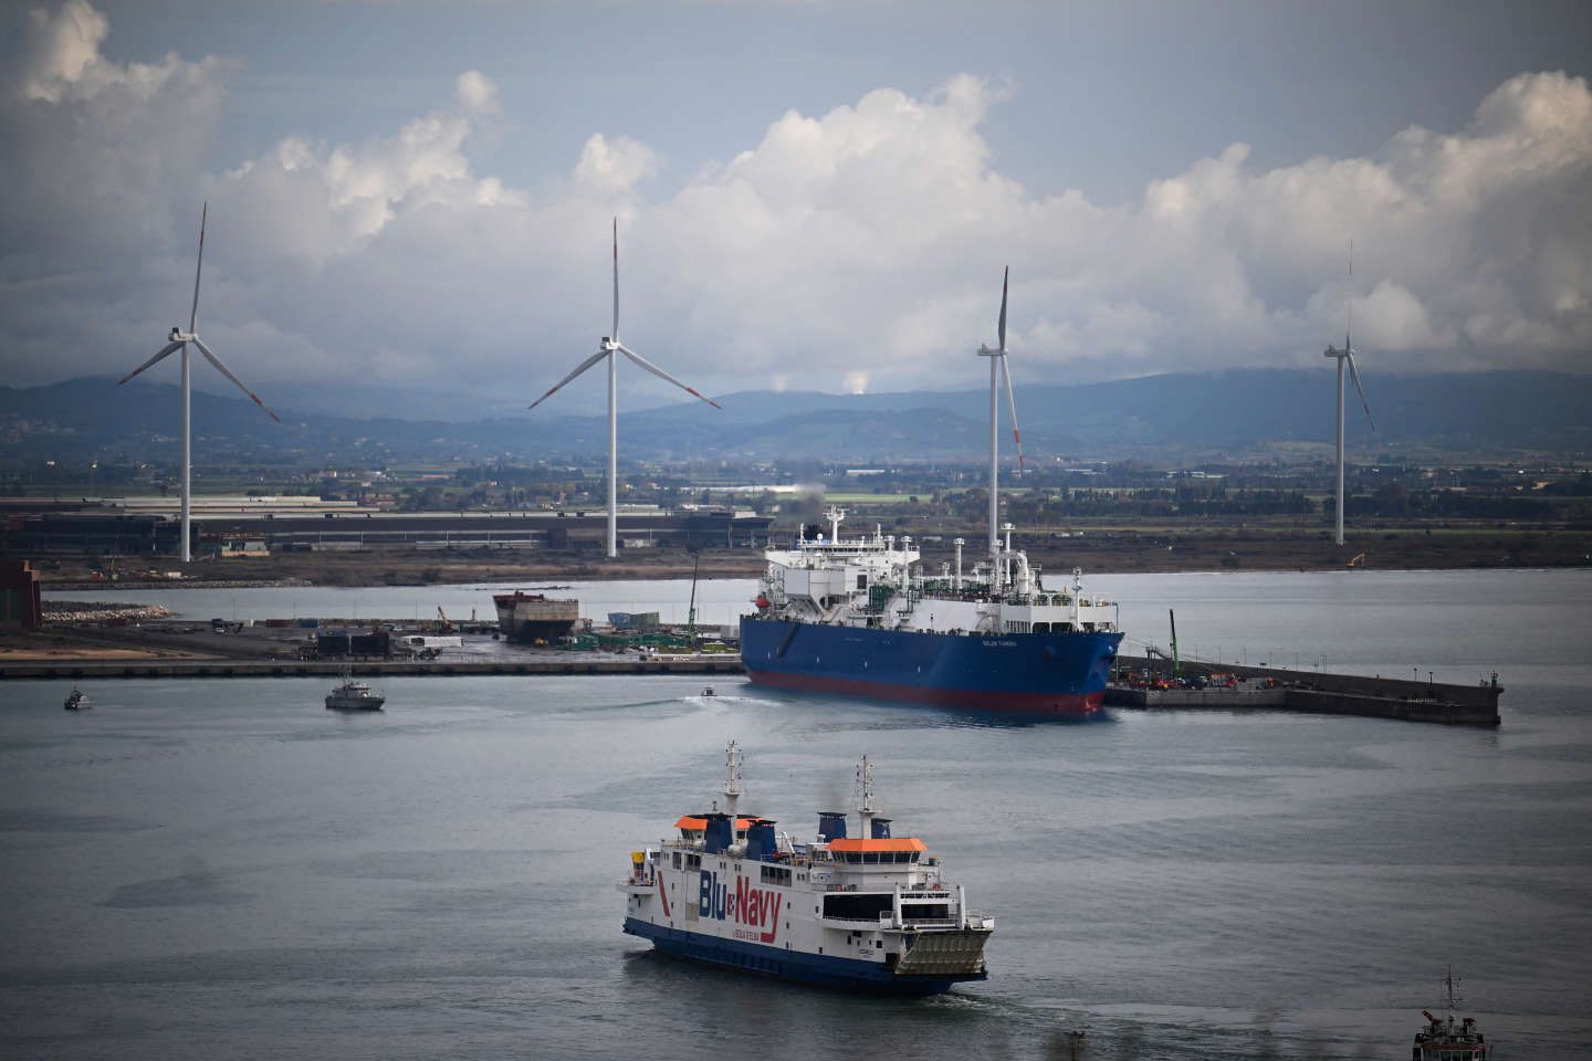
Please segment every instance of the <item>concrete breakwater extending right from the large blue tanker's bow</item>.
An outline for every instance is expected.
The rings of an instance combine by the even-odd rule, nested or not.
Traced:
[[[1119,657],[1129,673],[1165,674],[1164,659]],[[1356,714],[1407,722],[1441,722],[1446,725],[1500,725],[1496,679],[1477,686],[1453,686],[1404,678],[1368,678],[1364,674],[1329,674],[1323,671],[1285,670],[1275,667],[1210,665],[1186,662],[1184,676],[1210,678],[1232,674],[1235,687],[1205,689],[1134,689],[1113,684],[1106,705],[1146,709],[1285,709],[1310,714]]]

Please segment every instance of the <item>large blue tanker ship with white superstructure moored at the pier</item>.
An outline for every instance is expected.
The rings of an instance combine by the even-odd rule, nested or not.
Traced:
[[[963,711],[1087,717],[1100,709],[1122,635],[1116,606],[1075,571],[1048,592],[1022,552],[923,577],[912,539],[829,536],[771,550],[755,616],[740,620],[751,681]]]

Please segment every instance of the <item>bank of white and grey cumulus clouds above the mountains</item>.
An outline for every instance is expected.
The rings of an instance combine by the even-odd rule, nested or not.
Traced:
[[[1006,264],[1020,382],[1317,366],[1350,312],[1368,374],[1579,369],[1592,350],[1592,91],[1563,73],[1366,157],[1262,169],[1213,145],[1105,207],[1001,175],[982,129],[1013,89],[971,75],[774,116],[670,189],[621,130],[517,188],[471,154],[501,108],[478,70],[363,142],[217,159],[229,64],[119,64],[111,35],[70,0],[27,16],[8,64],[0,312],[22,382],[146,356],[185,307],[201,199],[209,334],[261,387],[540,393],[608,331],[611,215],[627,342],[718,391],[977,385]]]

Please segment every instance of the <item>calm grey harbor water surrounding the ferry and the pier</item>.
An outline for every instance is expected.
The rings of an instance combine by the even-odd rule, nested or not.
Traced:
[[[678,595],[683,619],[681,585],[573,595],[665,617],[648,601]],[[1504,725],[992,725],[672,678],[392,679],[368,717],[325,711],[318,681],[123,681],[68,714],[60,682],[5,684],[0,1055],[1025,1058],[1083,1031],[1086,1058],[1404,1058],[1452,966],[1498,1058],[1587,1056],[1592,573],[1087,589],[1141,641],[1175,608],[1184,651],[1229,662],[1496,670]],[[484,592],[161,603],[267,617],[358,593],[373,616],[457,617]],[[750,584],[699,592],[739,608]],[[729,738],[743,805],[801,834],[866,752],[898,830],[995,915],[990,980],[879,1001],[622,935],[611,883],[713,799]]]

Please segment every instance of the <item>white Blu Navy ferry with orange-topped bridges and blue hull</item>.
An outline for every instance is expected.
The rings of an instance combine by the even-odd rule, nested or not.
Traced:
[[[740,814],[740,748],[726,751],[724,810],[685,814],[678,838],[630,853],[624,931],[667,954],[782,980],[882,994],[941,994],[984,980],[995,919],[968,910],[917,837],[892,837],[856,768],[860,830],[820,811],[818,835]]]

